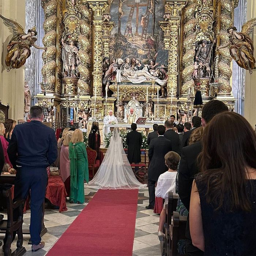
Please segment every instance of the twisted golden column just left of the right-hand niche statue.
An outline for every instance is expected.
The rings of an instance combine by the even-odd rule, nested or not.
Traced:
[[[195,56],[195,46],[193,45],[196,39],[194,34],[194,28],[196,25],[196,19],[194,17],[194,12],[196,10],[196,3],[193,0],[188,1],[184,10],[184,41],[182,44],[182,49],[184,51],[182,57],[182,87],[180,90],[181,96],[188,95],[189,89],[195,85],[192,79],[192,74],[194,72],[193,59]]]

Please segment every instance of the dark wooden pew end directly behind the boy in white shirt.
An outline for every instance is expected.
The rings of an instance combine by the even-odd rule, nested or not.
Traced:
[[[170,235],[169,227],[172,222],[173,212],[176,211],[178,203],[178,195],[173,195],[173,192],[168,193],[168,206],[166,207],[166,217],[165,224],[163,226],[163,233],[165,234],[164,240],[164,255],[169,256],[169,244],[170,244]]]

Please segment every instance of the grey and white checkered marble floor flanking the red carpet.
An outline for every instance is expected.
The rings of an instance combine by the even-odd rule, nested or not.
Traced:
[[[90,202],[96,189],[85,188],[86,203],[84,204],[70,204],[67,203],[68,210],[59,212],[59,210],[46,209],[44,223],[48,232],[42,237],[45,242],[45,247],[37,252],[31,251],[31,245],[28,244],[29,235],[24,235],[23,246],[26,248],[26,256],[44,256],[46,252],[55,244],[61,237],[68,226],[80,214],[84,207]],[[133,241],[132,256],[161,256],[159,240],[157,237],[157,230],[159,224],[159,215],[154,214],[153,210],[147,210],[145,206],[148,205],[148,189],[140,189],[138,196],[138,209],[135,224],[135,236]],[[4,218],[7,216],[5,215]],[[24,214],[23,229],[29,229],[30,211]],[[0,234],[0,240],[3,241],[4,236]],[[15,240],[16,241],[16,240]],[[12,243],[12,252],[15,250],[15,241]],[[0,249],[0,256],[4,255],[2,248]]]

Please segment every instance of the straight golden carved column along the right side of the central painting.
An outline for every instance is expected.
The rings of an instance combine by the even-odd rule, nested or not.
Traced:
[[[168,81],[167,81],[167,99],[177,99],[178,86],[178,53],[179,53],[179,31],[181,24],[181,10],[186,1],[165,0],[165,12],[169,14],[169,20],[159,22],[164,31],[165,49],[169,50],[168,57]]]

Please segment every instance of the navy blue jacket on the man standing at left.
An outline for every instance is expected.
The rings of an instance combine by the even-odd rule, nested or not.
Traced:
[[[16,125],[7,152],[15,167],[47,167],[58,155],[55,131],[35,120]]]

